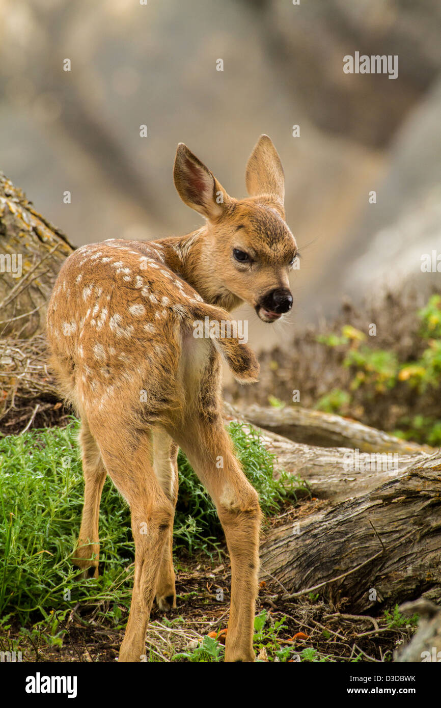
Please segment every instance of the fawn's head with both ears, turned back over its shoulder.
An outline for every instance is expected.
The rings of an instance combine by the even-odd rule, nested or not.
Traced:
[[[264,322],[288,312],[297,244],[285,222],[282,164],[268,135],[260,135],[246,165],[249,198],[230,197],[183,143],[173,177],[183,202],[207,219],[188,253],[189,280],[205,301],[226,309],[247,302]]]

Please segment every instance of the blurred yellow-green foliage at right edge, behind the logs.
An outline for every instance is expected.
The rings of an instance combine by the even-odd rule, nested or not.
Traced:
[[[364,342],[364,333],[353,327],[342,328],[342,336],[320,336],[318,341],[345,353],[343,366],[353,375],[348,391],[332,389],[322,396],[316,408],[330,413],[347,415],[357,401],[375,401],[391,389],[401,387],[403,392],[418,395],[428,389],[440,389],[441,382],[441,297],[433,295],[418,311],[420,337],[426,346],[416,360],[400,362],[396,353],[374,349]],[[441,444],[441,420],[433,416],[403,416],[396,435],[408,440]]]

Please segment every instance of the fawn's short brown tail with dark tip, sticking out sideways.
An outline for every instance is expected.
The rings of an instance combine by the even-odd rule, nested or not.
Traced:
[[[237,323],[227,310],[205,302],[191,307],[193,326],[202,327],[202,336],[210,336],[218,352],[226,360],[236,381],[251,384],[258,380],[260,366],[255,353],[237,336]],[[208,318],[208,321],[207,319]]]

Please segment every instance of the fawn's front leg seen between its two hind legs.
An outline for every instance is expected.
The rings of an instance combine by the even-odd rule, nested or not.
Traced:
[[[161,489],[176,507],[178,500],[178,445],[162,428],[153,433],[153,469]],[[164,544],[156,583],[156,605],[161,612],[176,607],[175,571],[173,569],[173,519]]]

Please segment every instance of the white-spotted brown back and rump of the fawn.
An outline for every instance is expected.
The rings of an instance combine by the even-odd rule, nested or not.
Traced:
[[[181,416],[201,394],[218,355],[193,337],[193,321],[228,314],[202,304],[162,249],[110,239],[82,246],[59,272],[47,310],[51,365],[80,415],[99,421],[116,407],[128,425],[145,426]]]

